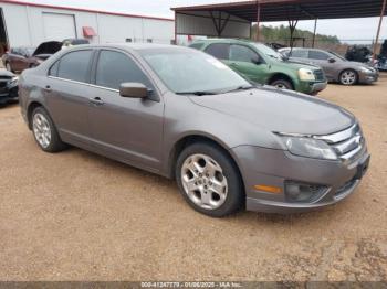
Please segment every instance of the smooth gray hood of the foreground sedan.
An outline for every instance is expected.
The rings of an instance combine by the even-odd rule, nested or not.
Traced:
[[[190,99],[274,132],[328,135],[355,122],[351,113],[321,98],[271,87]]]

